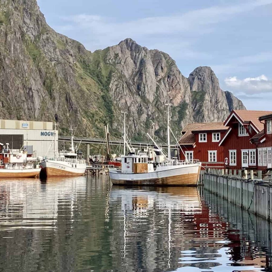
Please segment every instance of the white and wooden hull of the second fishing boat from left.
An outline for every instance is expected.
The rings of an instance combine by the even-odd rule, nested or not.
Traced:
[[[71,167],[63,162],[41,162],[41,174],[44,176],[82,176],[85,173],[86,165],[77,164],[77,167]]]

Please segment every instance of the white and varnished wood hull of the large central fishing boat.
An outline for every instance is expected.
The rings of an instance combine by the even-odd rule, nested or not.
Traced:
[[[109,175],[114,185],[197,186],[200,168],[201,164],[196,164],[140,174],[109,170]]]

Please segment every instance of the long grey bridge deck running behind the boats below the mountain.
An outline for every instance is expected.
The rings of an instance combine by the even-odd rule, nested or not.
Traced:
[[[59,141],[64,141],[64,142],[70,142],[71,137],[70,136],[61,136],[61,135],[59,135],[58,140]],[[105,143],[105,139],[100,139],[100,138],[79,138],[79,137],[74,137],[74,142],[75,143],[79,143],[80,141],[81,141],[82,144],[104,144]],[[111,140],[111,144],[112,145],[120,145],[120,140],[119,141]],[[123,142],[121,142],[121,144],[123,144]],[[146,145],[150,145],[150,143],[134,141],[134,142],[131,142],[131,145],[133,147],[144,147]],[[159,146],[161,146],[162,148],[167,148],[166,143],[159,143]],[[170,145],[170,147],[171,147],[171,149],[177,150],[177,147],[174,144]]]

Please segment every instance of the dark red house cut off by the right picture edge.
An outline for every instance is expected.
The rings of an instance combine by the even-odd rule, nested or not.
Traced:
[[[264,129],[251,138],[257,146],[257,169],[272,169],[272,112],[259,118]]]

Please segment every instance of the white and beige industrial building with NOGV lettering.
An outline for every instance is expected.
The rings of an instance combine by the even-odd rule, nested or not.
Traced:
[[[55,139],[53,122],[0,119],[1,139],[5,139],[5,135],[9,141],[12,141],[11,135],[22,135],[20,147],[24,146],[23,149],[34,156],[53,156]],[[58,131],[56,138],[58,139]],[[9,147],[12,148],[12,142],[9,142]]]

